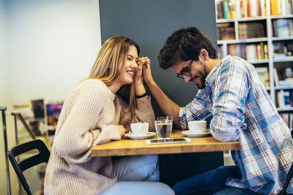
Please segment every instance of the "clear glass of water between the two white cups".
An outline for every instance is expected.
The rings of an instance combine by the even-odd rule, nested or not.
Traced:
[[[156,132],[159,139],[166,139],[171,137],[172,120],[155,120]]]

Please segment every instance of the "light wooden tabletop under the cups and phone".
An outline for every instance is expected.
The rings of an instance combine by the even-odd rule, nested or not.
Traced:
[[[171,138],[186,137],[183,130],[173,130]],[[150,139],[157,139],[157,136]],[[92,149],[92,156],[132,156],[152,154],[180,154],[239,150],[239,142],[218,142],[213,137],[190,138],[191,143],[146,145],[146,140],[132,140],[124,137],[119,141],[111,141],[97,145]]]

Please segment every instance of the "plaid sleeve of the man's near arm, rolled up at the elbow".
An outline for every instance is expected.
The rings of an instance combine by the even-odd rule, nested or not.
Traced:
[[[247,72],[238,59],[225,61],[215,80],[212,136],[221,142],[236,141],[244,123],[245,99],[248,94]]]

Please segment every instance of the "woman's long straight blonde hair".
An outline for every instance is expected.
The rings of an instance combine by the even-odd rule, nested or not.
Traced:
[[[122,77],[122,73],[125,72],[127,52],[132,45],[136,47],[137,55],[139,56],[140,48],[132,39],[124,36],[115,36],[107,39],[99,51],[88,78],[100,79],[107,86],[118,81]],[[120,66],[122,64],[123,67],[121,68]],[[134,116],[134,110],[136,108],[134,86],[135,83],[133,79],[131,84],[123,85],[116,93],[118,96],[127,99],[132,117]]]

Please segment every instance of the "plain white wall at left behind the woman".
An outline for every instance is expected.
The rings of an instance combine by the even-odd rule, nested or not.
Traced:
[[[10,112],[13,103],[33,98],[64,100],[89,75],[100,48],[98,0],[0,0],[0,105],[7,105]],[[11,147],[14,127],[7,119]],[[4,195],[1,130],[2,126],[0,195]],[[12,179],[16,194],[17,180]]]

